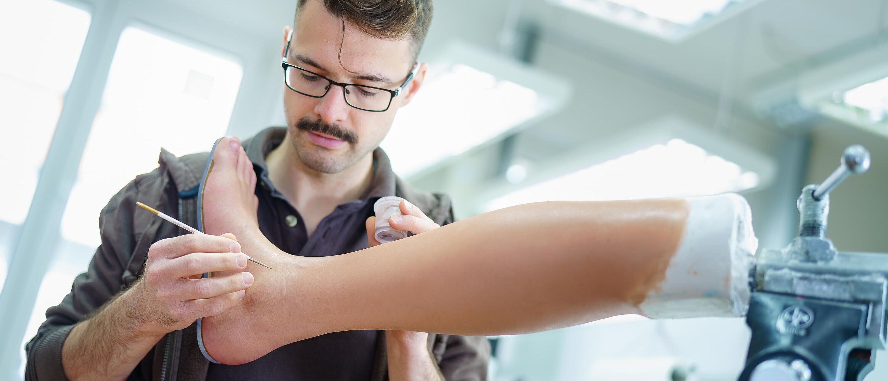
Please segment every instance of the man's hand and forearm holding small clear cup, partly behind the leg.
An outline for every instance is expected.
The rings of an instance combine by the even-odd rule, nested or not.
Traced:
[[[422,210],[410,202],[400,202],[401,216],[389,218],[389,226],[412,234],[425,233],[440,227],[425,216]],[[367,241],[369,247],[380,245],[374,237],[376,217],[367,218]],[[386,330],[385,349],[388,355],[389,379],[398,380],[443,380],[438,366],[428,349],[429,334],[409,330]]]

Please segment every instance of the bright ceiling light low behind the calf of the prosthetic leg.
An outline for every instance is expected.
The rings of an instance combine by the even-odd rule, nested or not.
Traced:
[[[601,151],[602,155],[560,158],[566,162],[587,164],[579,169],[560,171],[559,175],[536,181],[529,187],[513,187],[502,195],[489,198],[482,211],[527,202],[630,200],[741,192],[762,187],[772,178],[774,166],[766,156],[718,134],[690,125],[682,126],[683,123],[686,122],[668,118],[654,123],[654,127],[639,128],[603,141],[600,147],[611,147],[609,151],[598,149],[599,146],[584,147],[589,151]],[[557,164],[540,167],[554,165]]]

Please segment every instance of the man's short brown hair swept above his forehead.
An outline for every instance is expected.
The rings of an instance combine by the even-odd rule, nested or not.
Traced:
[[[296,14],[307,0],[298,0]],[[413,60],[432,24],[432,0],[320,0],[327,12],[348,20],[369,36],[387,40],[410,38]],[[294,22],[295,24],[295,22]]]

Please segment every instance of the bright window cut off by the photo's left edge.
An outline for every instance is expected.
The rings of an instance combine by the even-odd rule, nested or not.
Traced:
[[[0,3],[0,285],[90,19],[89,12],[52,0]]]

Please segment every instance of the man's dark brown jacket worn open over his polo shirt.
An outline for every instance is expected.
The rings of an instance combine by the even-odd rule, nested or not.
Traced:
[[[148,213],[135,213],[137,200],[157,205],[158,210],[196,226],[196,190],[207,158],[207,153],[176,157],[162,149],[155,171],[139,175],[108,202],[99,216],[102,243],[87,272],[76,277],[71,292],[59,306],[46,311],[46,321],[28,342],[26,380],[67,380],[61,348],[75,324],[139,279],[152,243],[187,233]],[[395,195],[413,202],[442,226],[453,222],[447,195],[417,191],[400,179],[396,179]],[[378,337],[373,381],[388,378],[385,335]],[[448,380],[487,378],[490,350],[485,337],[430,334],[429,348]],[[128,379],[203,381],[208,366],[197,347],[192,324],[163,337]]]

